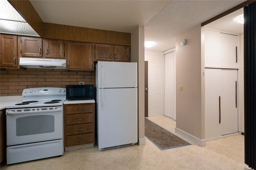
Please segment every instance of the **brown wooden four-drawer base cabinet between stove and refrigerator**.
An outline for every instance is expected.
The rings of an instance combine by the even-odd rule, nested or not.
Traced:
[[[65,147],[94,143],[94,103],[64,105],[64,123]]]

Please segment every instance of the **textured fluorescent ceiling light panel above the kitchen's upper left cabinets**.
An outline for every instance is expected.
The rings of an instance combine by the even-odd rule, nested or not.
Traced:
[[[39,36],[7,0],[0,0],[0,33]]]

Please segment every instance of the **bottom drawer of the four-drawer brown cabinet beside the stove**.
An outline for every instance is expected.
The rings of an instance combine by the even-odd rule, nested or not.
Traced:
[[[66,136],[65,147],[72,147],[80,144],[94,143],[93,133]]]

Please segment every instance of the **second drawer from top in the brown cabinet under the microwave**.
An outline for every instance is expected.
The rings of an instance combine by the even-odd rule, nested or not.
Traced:
[[[66,115],[66,125],[84,124],[93,122],[93,113]]]

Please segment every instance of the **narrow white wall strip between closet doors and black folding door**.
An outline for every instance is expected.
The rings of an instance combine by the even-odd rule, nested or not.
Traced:
[[[240,34],[240,55],[239,55],[239,131],[244,132],[244,34]]]

